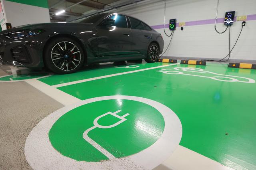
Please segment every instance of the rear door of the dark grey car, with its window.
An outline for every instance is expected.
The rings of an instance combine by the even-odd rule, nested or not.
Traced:
[[[145,55],[148,51],[148,45],[152,34],[145,27],[146,24],[135,18],[129,17],[132,30],[132,50],[140,55]],[[150,29],[151,30],[151,29]]]

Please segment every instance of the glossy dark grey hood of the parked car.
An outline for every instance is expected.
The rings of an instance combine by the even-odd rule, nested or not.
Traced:
[[[17,26],[14,28],[4,30],[4,31],[0,32],[0,36],[2,36],[4,34],[16,32],[16,31],[20,31],[20,30],[36,29],[36,28],[44,29],[47,27],[58,27],[58,26],[63,27],[63,26],[67,26],[67,25],[81,25],[81,23],[59,23],[59,22],[57,22],[57,23],[27,24],[27,25]],[[91,24],[83,23],[82,25],[89,26]]]

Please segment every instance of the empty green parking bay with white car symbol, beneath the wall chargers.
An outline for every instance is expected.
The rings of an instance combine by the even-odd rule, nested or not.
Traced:
[[[131,95],[158,101],[178,115],[180,145],[231,168],[255,169],[255,80],[256,70],[178,64],[58,89],[81,100]]]

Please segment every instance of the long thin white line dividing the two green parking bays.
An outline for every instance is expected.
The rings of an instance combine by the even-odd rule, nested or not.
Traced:
[[[107,78],[107,77],[113,77],[113,76],[117,76],[117,75],[124,75],[124,74],[130,74],[130,73],[136,73],[136,72],[140,72],[140,71],[146,71],[146,70],[151,70],[151,69],[168,67],[168,66],[171,66],[171,65],[178,65],[178,64],[180,64],[180,63],[161,65],[161,66],[157,66],[157,67],[150,67],[150,68],[139,69],[139,70],[134,70],[134,71],[126,71],[126,72],[123,72],[123,73],[104,75],[104,76],[100,76],[100,77],[93,77],[93,78],[90,78],[90,79],[84,79],[84,80],[72,81],[72,82],[68,82],[68,83],[62,83],[62,84],[58,84],[58,85],[52,85],[52,87],[58,88],[58,87],[63,87],[63,86],[67,86],[67,85],[74,85],[74,84],[77,84],[77,83],[83,83],[83,82],[86,82],[86,81],[104,79],[104,78]]]

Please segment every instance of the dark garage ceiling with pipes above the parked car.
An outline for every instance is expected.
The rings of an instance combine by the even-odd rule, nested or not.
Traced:
[[[48,0],[51,22],[75,22],[102,12],[122,12],[132,6],[183,0]],[[56,16],[56,12],[66,12]]]

